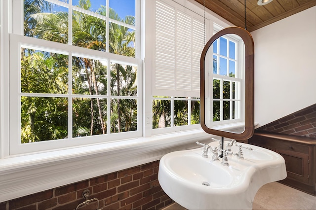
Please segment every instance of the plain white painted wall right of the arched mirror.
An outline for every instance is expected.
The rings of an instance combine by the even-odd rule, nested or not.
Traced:
[[[251,35],[258,126],[316,104],[316,6]]]

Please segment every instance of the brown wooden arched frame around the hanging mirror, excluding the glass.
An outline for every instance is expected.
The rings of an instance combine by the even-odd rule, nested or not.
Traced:
[[[222,35],[235,34],[245,44],[245,129],[242,133],[232,133],[208,128],[205,125],[205,57],[209,47]],[[254,44],[250,33],[240,27],[229,27],[213,35],[203,48],[200,60],[200,124],[208,133],[235,140],[247,140],[254,133]]]

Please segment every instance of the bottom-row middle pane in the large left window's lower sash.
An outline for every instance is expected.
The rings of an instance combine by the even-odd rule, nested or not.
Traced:
[[[73,137],[106,133],[107,100],[99,98],[73,98]]]

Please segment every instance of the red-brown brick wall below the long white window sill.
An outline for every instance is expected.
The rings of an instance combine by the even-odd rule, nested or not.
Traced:
[[[103,210],[162,209],[173,201],[158,183],[158,166],[155,161],[6,201],[0,203],[0,210],[74,210],[84,201],[85,189],[90,190],[89,199],[99,199]],[[97,209],[97,202],[79,208],[88,209]]]

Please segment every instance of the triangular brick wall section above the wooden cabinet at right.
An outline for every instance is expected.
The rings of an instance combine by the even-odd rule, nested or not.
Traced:
[[[316,139],[316,104],[282,117],[256,130]]]

